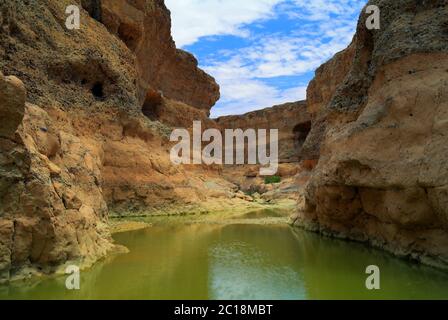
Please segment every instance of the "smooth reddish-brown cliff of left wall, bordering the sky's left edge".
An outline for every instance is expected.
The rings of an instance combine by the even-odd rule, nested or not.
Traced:
[[[188,52],[176,49],[170,12],[161,0],[101,0],[101,21],[136,54],[139,98],[149,88],[207,114],[219,99],[215,80]]]

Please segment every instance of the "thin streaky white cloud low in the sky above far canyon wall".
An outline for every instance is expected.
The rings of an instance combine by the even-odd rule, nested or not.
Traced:
[[[278,89],[265,81],[313,72],[351,40],[351,32],[336,34],[326,43],[310,38],[266,37],[251,47],[236,50],[227,60],[211,61],[204,68],[217,79],[222,95],[212,116],[304,100],[306,84]]]

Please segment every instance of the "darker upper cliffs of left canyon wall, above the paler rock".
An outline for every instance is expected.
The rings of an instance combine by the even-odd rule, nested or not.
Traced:
[[[0,66],[24,81],[31,102],[106,102],[137,110],[151,90],[208,114],[219,99],[215,80],[191,54],[176,49],[163,1],[83,0],[88,11],[82,10],[79,31],[65,29],[69,4],[0,2]],[[35,19],[31,26],[33,16],[48,19]]]

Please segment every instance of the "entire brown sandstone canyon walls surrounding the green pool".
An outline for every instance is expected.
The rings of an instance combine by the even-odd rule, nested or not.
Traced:
[[[75,2],[81,28],[65,28]],[[371,0],[306,101],[210,118],[215,79],[163,0],[0,0],[0,282],[126,249],[111,220],[287,210],[290,224],[448,267],[448,4]],[[279,129],[258,166],[175,166],[170,133]]]

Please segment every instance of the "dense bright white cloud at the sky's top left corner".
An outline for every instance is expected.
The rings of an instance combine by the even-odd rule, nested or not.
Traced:
[[[272,17],[284,0],[165,0],[178,47],[216,35],[249,36],[245,25]]]

